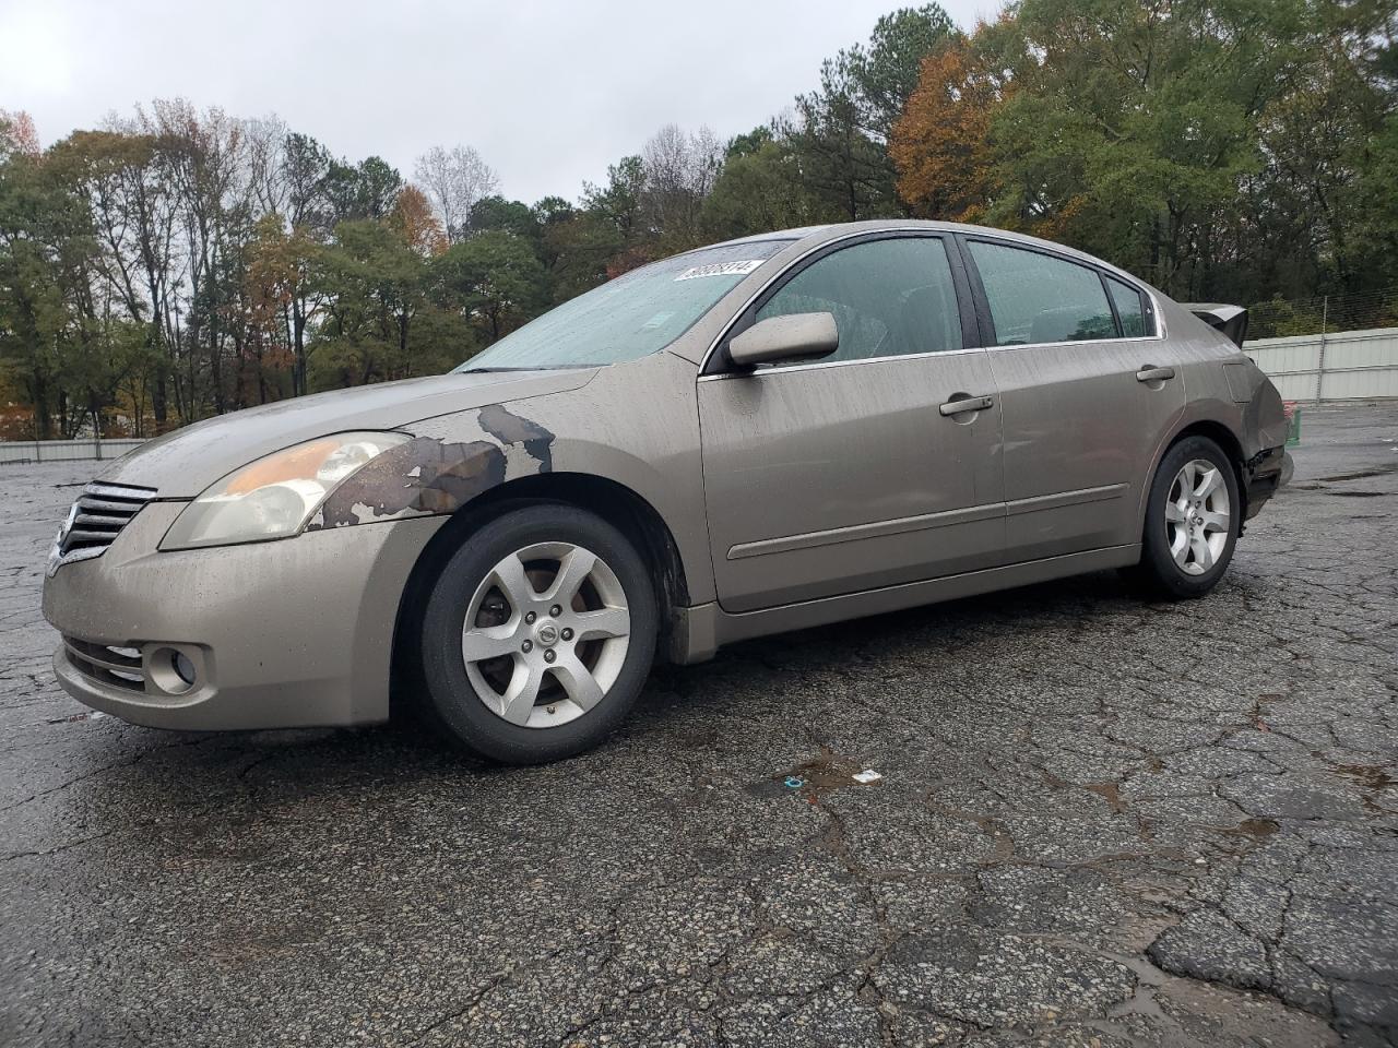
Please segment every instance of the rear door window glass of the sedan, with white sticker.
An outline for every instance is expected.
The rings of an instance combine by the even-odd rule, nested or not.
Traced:
[[[995,324],[995,345],[1116,338],[1096,270],[998,243],[970,242]]]

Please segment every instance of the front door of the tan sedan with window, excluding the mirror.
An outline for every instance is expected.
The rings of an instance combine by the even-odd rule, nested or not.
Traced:
[[[699,380],[723,608],[998,563],[1000,412],[987,354],[965,334],[974,316],[959,256],[939,236],[836,245],[786,275],[730,334],[812,312],[835,314],[832,356]]]

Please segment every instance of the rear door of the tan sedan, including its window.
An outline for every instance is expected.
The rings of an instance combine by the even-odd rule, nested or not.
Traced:
[[[1184,409],[1151,296],[1023,243],[960,245],[1000,390],[1007,560],[1139,542],[1141,488]]]

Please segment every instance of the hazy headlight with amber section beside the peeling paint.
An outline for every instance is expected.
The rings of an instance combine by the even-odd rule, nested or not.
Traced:
[[[336,486],[407,433],[337,433],[235,470],[176,517],[161,549],[289,538]]]

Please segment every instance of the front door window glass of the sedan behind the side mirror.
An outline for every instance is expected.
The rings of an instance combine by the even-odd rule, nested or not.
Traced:
[[[934,236],[865,240],[816,259],[781,285],[758,320],[833,313],[840,348],[829,361],[962,348],[946,246]]]

